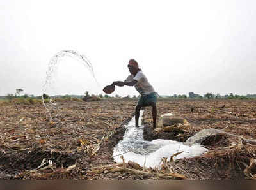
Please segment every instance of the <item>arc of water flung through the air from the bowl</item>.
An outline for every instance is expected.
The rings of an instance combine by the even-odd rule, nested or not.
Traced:
[[[45,84],[43,85],[42,94],[45,94],[47,89],[52,84],[54,84],[54,82],[55,82],[54,81],[54,74],[56,73],[56,70],[58,69],[58,61],[60,60],[61,57],[65,57],[65,56],[72,57],[72,58],[76,59],[77,61],[81,62],[86,68],[89,69],[93,78],[95,79],[95,81],[99,85],[99,82],[97,81],[97,79],[94,75],[92,64],[86,58],[86,56],[84,56],[83,54],[79,54],[78,52],[76,52],[74,50],[62,50],[62,51],[58,52],[57,54],[55,54],[52,57],[52,59],[50,60],[49,64],[48,64],[48,71],[46,72],[46,77],[45,77],[46,80],[45,80]],[[46,109],[47,113],[49,114],[49,118],[50,118],[50,121],[51,121],[52,120],[51,108],[46,105],[46,103],[44,101],[44,96],[42,96],[42,101],[43,101],[43,104],[45,106],[45,109]],[[50,99],[50,103],[52,103],[51,99]]]

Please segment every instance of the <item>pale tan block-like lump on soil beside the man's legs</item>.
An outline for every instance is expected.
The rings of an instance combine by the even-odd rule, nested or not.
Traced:
[[[182,117],[173,117],[172,113],[166,113],[159,118],[158,127],[163,128],[173,124],[186,124],[188,121]]]

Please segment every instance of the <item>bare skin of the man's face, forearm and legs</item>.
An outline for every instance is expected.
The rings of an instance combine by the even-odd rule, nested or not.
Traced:
[[[129,72],[132,74],[132,75],[136,75],[139,71],[138,68],[134,68],[133,66],[130,66],[128,65],[128,69],[129,69]],[[131,82],[124,82],[124,81],[115,81],[113,82],[111,85],[116,85],[118,87],[123,87],[124,85],[127,85],[127,86],[134,86],[136,85],[138,81],[137,80],[132,80]],[[156,103],[154,102],[150,102],[148,105],[136,105],[136,108],[135,108],[135,122],[136,122],[136,127],[139,126],[139,117],[140,117],[140,109],[143,108],[143,107],[147,107],[147,106],[151,106],[152,108],[152,117],[153,117],[153,128],[156,128],[156,115],[157,115],[157,108],[156,108]]]

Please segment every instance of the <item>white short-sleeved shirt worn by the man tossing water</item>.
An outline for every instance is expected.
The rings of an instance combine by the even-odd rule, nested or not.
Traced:
[[[135,77],[134,75],[129,75],[125,79],[125,82],[131,82],[132,80],[138,81],[134,87],[141,94],[141,96],[155,92],[154,88],[149,84],[147,77],[144,75],[144,73],[142,73],[142,71],[138,71]]]

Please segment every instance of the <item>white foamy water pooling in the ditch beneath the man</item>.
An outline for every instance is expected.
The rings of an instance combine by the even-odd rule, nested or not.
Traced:
[[[144,140],[144,126],[141,125],[141,115],[143,115],[143,110],[140,111],[140,127],[135,127],[135,117],[132,117],[131,121],[125,126],[126,131],[123,140],[120,140],[113,150],[113,158],[116,163],[122,163],[120,157],[122,154],[125,162],[133,161],[140,164],[140,166],[145,164],[146,167],[154,168],[159,166],[161,158],[166,157],[170,160],[170,157],[177,152],[184,151],[184,153],[175,156],[174,159],[196,157],[207,151],[198,144],[188,146],[174,140]]]

